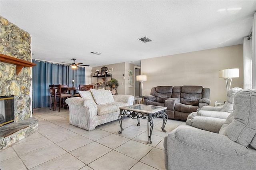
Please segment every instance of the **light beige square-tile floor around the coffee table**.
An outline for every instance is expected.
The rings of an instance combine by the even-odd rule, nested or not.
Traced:
[[[164,170],[164,136],[182,121],[154,119],[152,144],[147,144],[147,120],[124,118],[87,131],[69,124],[68,109],[33,109],[39,120],[32,135],[0,152],[1,170]]]

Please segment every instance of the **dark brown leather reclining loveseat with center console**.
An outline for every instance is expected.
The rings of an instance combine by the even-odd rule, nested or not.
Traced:
[[[144,105],[165,106],[169,119],[186,121],[190,113],[209,105],[209,98],[210,89],[202,86],[157,86],[144,96]]]

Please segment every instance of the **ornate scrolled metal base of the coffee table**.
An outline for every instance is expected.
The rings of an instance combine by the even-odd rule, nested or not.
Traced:
[[[119,124],[120,124],[121,130],[118,132],[118,134],[121,134],[124,130],[122,128],[122,120],[123,120],[124,116],[128,116],[132,119],[137,119],[137,121],[138,121],[137,126],[140,126],[140,118],[148,119],[148,124],[150,123],[150,132],[148,132],[148,141],[150,143],[152,143],[151,136],[152,136],[152,131],[153,131],[153,127],[154,127],[153,119],[155,119],[157,117],[163,117],[163,126],[161,128],[162,128],[163,132],[166,132],[166,130],[164,129],[167,119],[168,119],[168,115],[166,114],[166,109],[164,109],[162,111],[158,111],[156,113],[141,113],[141,112],[136,112],[136,111],[127,111],[127,110],[120,109],[120,115],[118,116],[118,118],[119,118]]]

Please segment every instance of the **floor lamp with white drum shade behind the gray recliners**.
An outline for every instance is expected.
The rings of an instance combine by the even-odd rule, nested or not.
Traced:
[[[232,78],[237,77],[239,77],[239,69],[224,69],[219,71],[219,78],[226,80],[227,94],[231,87]]]

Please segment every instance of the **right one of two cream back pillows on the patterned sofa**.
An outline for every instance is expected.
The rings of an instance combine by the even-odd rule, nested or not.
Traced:
[[[113,95],[110,90],[96,90],[96,89],[90,89],[92,91],[92,95],[94,97],[95,102],[98,105],[114,102]]]

